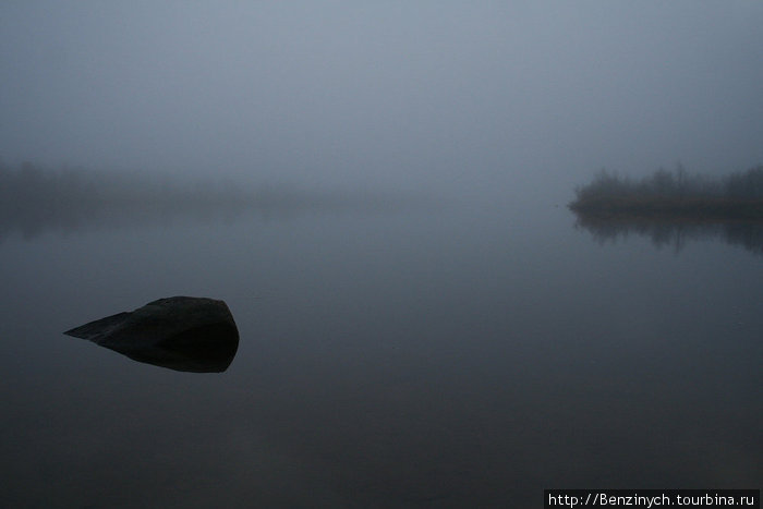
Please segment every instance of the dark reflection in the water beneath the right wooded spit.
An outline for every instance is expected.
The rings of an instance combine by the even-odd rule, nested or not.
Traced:
[[[588,230],[601,244],[617,242],[630,234],[649,237],[658,247],[680,252],[688,242],[717,239],[763,255],[763,221],[723,221],[637,215],[577,214],[576,228]]]

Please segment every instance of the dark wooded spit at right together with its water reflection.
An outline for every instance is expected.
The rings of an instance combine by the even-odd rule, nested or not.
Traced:
[[[763,166],[711,179],[678,165],[637,181],[602,170],[569,207],[600,243],[637,234],[679,252],[714,238],[763,255]]]

